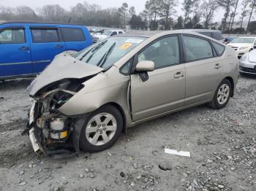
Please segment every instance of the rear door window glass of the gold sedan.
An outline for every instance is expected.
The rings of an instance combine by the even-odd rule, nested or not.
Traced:
[[[194,36],[184,36],[185,52],[188,62],[213,58],[211,44]]]

